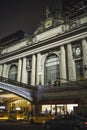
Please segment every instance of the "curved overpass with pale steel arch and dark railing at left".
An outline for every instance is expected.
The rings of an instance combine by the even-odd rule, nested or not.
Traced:
[[[0,89],[21,96],[30,102],[34,101],[33,95],[35,92],[35,87],[33,86],[0,77]]]

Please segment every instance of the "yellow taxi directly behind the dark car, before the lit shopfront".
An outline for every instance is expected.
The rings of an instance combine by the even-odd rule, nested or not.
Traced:
[[[51,119],[53,116],[50,114],[38,114],[38,115],[32,115],[29,116],[29,124],[43,124],[44,121]]]

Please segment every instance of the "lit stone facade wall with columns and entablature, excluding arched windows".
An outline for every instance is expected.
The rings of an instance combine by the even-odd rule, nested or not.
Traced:
[[[2,48],[0,76],[9,78],[10,69],[15,65],[17,81],[35,87],[40,84],[46,87],[45,61],[50,54],[56,54],[60,59],[61,83],[87,79],[86,19],[86,15],[72,19],[41,34],[36,34],[31,41],[25,39],[13,46]],[[82,62],[82,77],[78,77],[76,71],[79,61]]]

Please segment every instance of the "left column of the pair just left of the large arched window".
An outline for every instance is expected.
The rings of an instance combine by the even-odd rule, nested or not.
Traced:
[[[31,74],[31,85],[35,85],[35,67],[36,67],[36,56],[32,56],[32,74]]]

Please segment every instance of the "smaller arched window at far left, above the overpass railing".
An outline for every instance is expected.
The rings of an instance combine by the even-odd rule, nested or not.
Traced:
[[[9,70],[9,79],[17,81],[17,66],[12,65]]]

